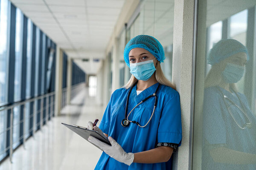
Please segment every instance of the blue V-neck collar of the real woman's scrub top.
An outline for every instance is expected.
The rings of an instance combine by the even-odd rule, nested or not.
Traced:
[[[150,96],[151,94],[154,94],[154,92],[157,89],[157,86],[159,85],[159,82],[155,83],[154,85],[151,85],[150,87],[143,90],[139,95],[137,95],[137,84],[133,87],[131,90],[131,97],[130,99],[132,101],[135,101],[136,103],[141,102],[143,99],[145,99],[147,96]]]

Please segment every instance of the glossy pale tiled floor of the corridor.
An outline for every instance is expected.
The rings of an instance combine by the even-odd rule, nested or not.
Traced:
[[[86,127],[89,120],[102,117],[102,107],[95,105],[94,99],[84,99],[85,93],[79,93],[71,105],[63,108],[61,116],[30,137],[25,148],[15,150],[12,163],[6,159],[0,170],[93,170],[102,151],[61,125],[64,122]]]

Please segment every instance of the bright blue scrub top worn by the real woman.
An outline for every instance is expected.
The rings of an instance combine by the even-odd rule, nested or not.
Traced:
[[[127,114],[147,96],[154,94],[156,83],[137,95],[137,85],[131,90]],[[121,125],[125,119],[125,106],[129,89],[120,88],[113,92],[103,115],[99,128],[118,142],[125,152],[137,153],[151,150],[159,142],[175,143],[180,146],[182,139],[180,96],[177,91],[166,85],[160,85],[157,91],[157,107],[146,127],[130,123]],[[145,125],[151,117],[155,98],[151,97],[132,111],[129,120]],[[168,162],[155,164],[132,163],[130,166],[116,161],[102,153],[95,170],[166,170],[171,168],[172,158]]]

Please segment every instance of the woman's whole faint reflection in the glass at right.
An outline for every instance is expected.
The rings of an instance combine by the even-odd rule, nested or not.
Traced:
[[[220,40],[209,52],[202,170],[256,170],[256,118],[235,84],[248,60],[244,45],[232,39]]]

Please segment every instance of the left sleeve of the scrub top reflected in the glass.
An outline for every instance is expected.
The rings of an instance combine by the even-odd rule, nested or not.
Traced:
[[[223,100],[219,98],[217,93],[204,95],[203,107],[203,137],[209,144],[226,144],[226,128],[223,119],[223,111],[227,113],[227,109],[221,109]]]

